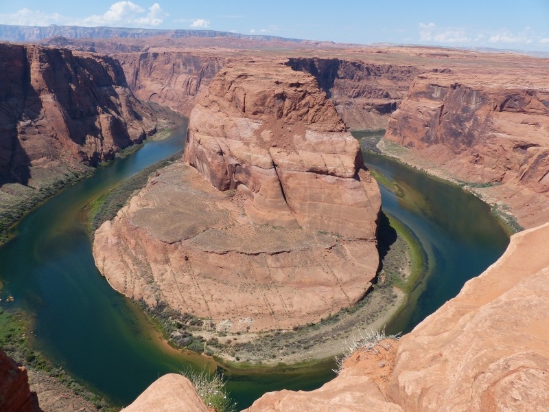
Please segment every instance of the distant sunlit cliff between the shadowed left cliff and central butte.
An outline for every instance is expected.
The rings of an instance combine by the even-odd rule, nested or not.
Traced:
[[[163,104],[187,116],[198,91],[207,87],[226,62],[222,56],[173,50],[114,56],[137,98]]]

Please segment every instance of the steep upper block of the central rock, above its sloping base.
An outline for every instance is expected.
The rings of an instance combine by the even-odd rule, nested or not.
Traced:
[[[344,130],[312,76],[234,64],[191,113],[185,161],[218,190],[241,193],[258,225],[373,239],[379,192]]]

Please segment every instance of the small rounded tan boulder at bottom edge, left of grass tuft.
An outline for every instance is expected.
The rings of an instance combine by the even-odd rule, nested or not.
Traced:
[[[155,380],[124,412],[210,412],[190,380],[167,374]]]

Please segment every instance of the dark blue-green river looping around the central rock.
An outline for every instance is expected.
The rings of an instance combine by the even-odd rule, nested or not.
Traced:
[[[34,319],[33,345],[115,405],[132,402],[167,372],[218,366],[162,343],[143,314],[108,286],[95,268],[84,221],[84,207],[94,198],[181,150],[184,139],[185,128],[174,130],[67,187],[27,214],[16,237],[0,249],[2,307],[8,307],[5,297],[14,296],[11,307]],[[429,257],[425,281],[390,325],[408,330],[496,260],[509,239],[474,196],[394,161],[367,161],[402,188],[405,196],[397,197],[382,187],[383,208],[416,233]],[[244,408],[266,391],[319,387],[334,376],[332,366],[227,369],[227,389]]]

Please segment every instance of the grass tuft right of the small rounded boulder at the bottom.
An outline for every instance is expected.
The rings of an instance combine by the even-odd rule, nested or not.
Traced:
[[[236,404],[227,396],[223,375],[207,374],[206,371],[182,371],[181,374],[191,381],[198,396],[216,412],[234,412]]]

